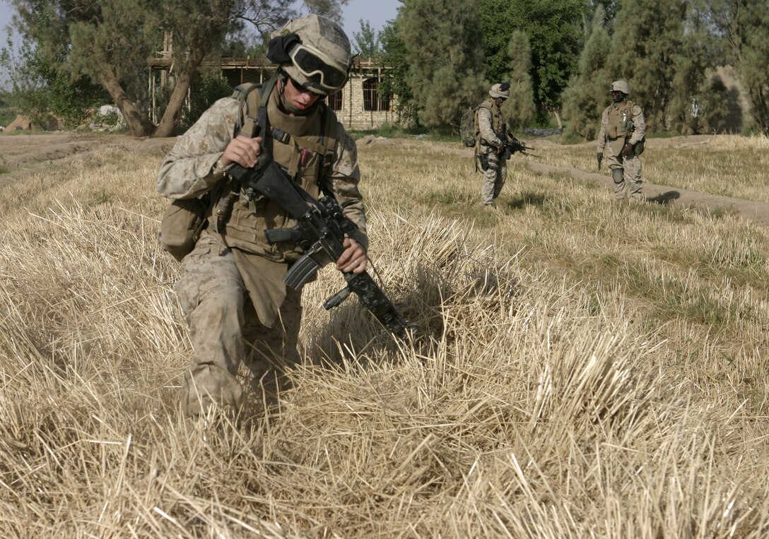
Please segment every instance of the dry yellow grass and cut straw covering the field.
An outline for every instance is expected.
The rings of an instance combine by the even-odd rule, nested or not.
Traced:
[[[594,171],[592,145],[534,145]],[[769,229],[527,158],[481,211],[458,143],[361,144],[371,258],[415,338],[323,310],[324,270],[291,390],[204,424],[178,403],[165,147],[139,147],[0,186],[2,537],[769,534]],[[652,141],[644,177],[769,202],[767,150]]]

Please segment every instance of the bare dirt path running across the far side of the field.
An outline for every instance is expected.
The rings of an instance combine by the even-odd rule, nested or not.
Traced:
[[[651,139],[650,145],[665,144],[699,144],[702,137],[677,137],[674,139]],[[101,151],[105,148],[138,151],[152,155],[165,155],[174,144],[175,138],[135,138],[127,135],[100,135],[93,133],[62,132],[42,135],[0,135],[0,184],[17,181],[36,171],[50,165],[65,165],[75,158],[82,158],[88,154]],[[548,141],[538,141],[538,145],[552,145]],[[439,145],[441,151],[446,150],[442,143],[429,141],[401,140],[393,138],[363,138],[358,141],[358,146],[365,145]],[[592,143],[586,143],[586,146]],[[471,155],[467,148],[455,148],[451,151],[461,155]],[[585,172],[577,168],[544,165],[537,161],[525,161],[528,168],[539,174],[551,172],[568,174],[578,181],[591,181],[596,185],[612,191],[614,185],[611,177],[598,172]],[[757,221],[761,225],[769,226],[769,204],[765,202],[753,202],[741,198],[731,198],[719,195],[709,195],[697,191],[672,188],[667,185],[654,185],[644,182],[644,195],[650,201],[660,204],[676,204],[697,206],[735,211],[747,219]]]

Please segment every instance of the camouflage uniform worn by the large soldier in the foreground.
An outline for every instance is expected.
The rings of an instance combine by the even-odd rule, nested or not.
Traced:
[[[275,161],[312,195],[318,195],[318,180],[330,188],[345,216],[360,228],[353,237],[367,245],[355,141],[335,122],[335,148],[331,162],[323,165],[325,161],[313,151],[305,155],[306,148],[317,146],[308,137],[307,125],[317,125],[322,109],[318,106],[306,116],[288,115],[278,107],[279,99],[275,88],[268,118],[291,139],[285,145],[274,141]],[[230,185],[219,158],[233,138],[238,115],[235,98],[211,105],[166,156],[158,172],[158,192],[173,199],[193,198],[207,191],[215,193],[215,199],[226,195]],[[218,230],[215,219],[209,221],[195,250],[182,261],[176,283],[194,348],[193,361],[185,372],[182,403],[193,415],[214,403],[240,404],[242,388],[235,376],[241,361],[246,361],[262,389],[276,391],[280,374],[300,360],[301,292],[288,289],[281,279],[301,250],[295,245],[269,245],[262,230],[290,227],[295,222],[272,201],[249,201],[243,191],[226,227]]]

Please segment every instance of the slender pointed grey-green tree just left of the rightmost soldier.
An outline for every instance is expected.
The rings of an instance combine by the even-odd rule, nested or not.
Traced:
[[[571,76],[564,91],[564,117],[567,135],[591,140],[598,135],[601,114],[608,105],[611,75],[606,60],[611,51],[611,38],[606,30],[603,5],[595,9],[588,41],[579,57],[579,71]]]

